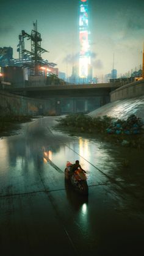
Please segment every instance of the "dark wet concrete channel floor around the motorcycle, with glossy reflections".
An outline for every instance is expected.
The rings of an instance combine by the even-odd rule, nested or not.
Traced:
[[[115,175],[118,152],[52,129],[55,119],[0,140],[1,255],[142,255],[143,195]],[[88,197],[65,183],[65,165],[76,159]]]

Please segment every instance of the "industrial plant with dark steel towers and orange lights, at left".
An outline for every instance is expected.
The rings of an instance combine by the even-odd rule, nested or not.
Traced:
[[[26,37],[31,40],[31,51],[24,47]],[[41,53],[45,53],[46,50],[41,48],[41,40],[36,21],[31,34],[21,31],[19,35],[18,59],[13,59],[11,47],[0,48],[1,84],[12,87],[43,86],[46,76],[51,73],[59,75],[59,69],[55,68],[57,64],[42,59]]]

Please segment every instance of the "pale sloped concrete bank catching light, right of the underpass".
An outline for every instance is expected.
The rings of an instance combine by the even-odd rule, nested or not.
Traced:
[[[127,119],[131,114],[137,115],[137,117],[140,117],[144,122],[144,95],[108,103],[90,112],[88,115],[91,117],[103,117],[104,115],[108,115],[118,119]]]

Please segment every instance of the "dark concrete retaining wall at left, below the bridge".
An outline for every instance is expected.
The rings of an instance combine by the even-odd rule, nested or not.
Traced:
[[[0,115],[56,114],[54,100],[39,100],[0,91]]]

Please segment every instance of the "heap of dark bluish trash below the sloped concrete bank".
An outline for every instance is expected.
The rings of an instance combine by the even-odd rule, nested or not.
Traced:
[[[141,118],[132,114],[127,120],[114,120],[106,131],[109,134],[139,134],[143,131],[143,122]]]

